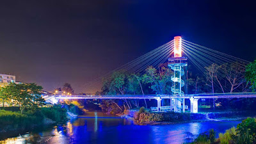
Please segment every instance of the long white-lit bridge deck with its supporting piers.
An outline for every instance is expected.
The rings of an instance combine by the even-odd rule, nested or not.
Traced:
[[[52,104],[61,99],[78,100],[78,99],[156,99],[157,107],[151,108],[152,111],[172,111],[172,101],[174,99],[189,99],[191,113],[198,113],[198,99],[229,99],[229,98],[255,98],[256,93],[199,93],[188,94],[184,96],[175,95],[45,95],[46,102]],[[170,106],[161,106],[162,99],[170,99]],[[171,109],[172,107],[172,109]],[[188,106],[182,104],[180,107],[183,111]]]

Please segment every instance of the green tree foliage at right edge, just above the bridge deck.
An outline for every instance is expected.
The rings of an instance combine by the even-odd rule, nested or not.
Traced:
[[[246,66],[245,79],[251,84],[252,91],[256,90],[256,60]]]

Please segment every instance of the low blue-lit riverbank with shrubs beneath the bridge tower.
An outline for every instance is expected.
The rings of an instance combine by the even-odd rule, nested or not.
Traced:
[[[256,116],[252,111],[229,111],[218,113],[152,113],[145,109],[131,110],[125,109],[122,117],[133,120],[137,125],[166,125],[188,122],[207,122],[207,121],[237,121],[244,120],[249,116]]]

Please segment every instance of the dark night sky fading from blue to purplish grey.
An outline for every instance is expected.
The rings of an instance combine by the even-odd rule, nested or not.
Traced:
[[[1,1],[0,73],[44,90],[68,82],[79,93],[177,35],[253,61],[255,11],[253,3],[223,0]]]

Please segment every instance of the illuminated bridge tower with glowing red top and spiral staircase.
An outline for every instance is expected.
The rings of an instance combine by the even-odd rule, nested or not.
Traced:
[[[181,36],[175,36],[174,37],[174,57],[169,58],[168,61],[168,67],[172,68],[174,74],[172,76],[173,86],[172,86],[172,92],[174,96],[182,97],[184,96],[184,92],[182,91],[182,88],[184,86],[184,80],[182,80],[182,76],[184,76],[184,68],[188,65],[187,60],[188,58],[182,57],[182,48],[181,48],[181,42],[182,38]],[[182,102],[182,106],[181,106]],[[171,110],[172,106],[175,112],[185,112],[185,99],[171,99]]]

